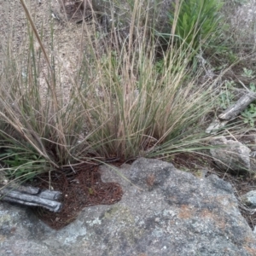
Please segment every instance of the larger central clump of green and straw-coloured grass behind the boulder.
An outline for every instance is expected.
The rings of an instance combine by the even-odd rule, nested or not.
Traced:
[[[89,131],[98,127],[92,137],[99,142],[100,154],[132,158],[161,143],[172,147],[177,137],[182,146],[180,135],[195,131],[193,125],[211,106],[210,86],[195,84],[182,50],[168,51],[164,60],[160,76],[154,42],[148,44],[146,38],[137,39],[133,49],[114,54],[109,50],[103,61],[96,60],[98,84],[86,79],[95,101],[84,97],[83,102],[92,104],[88,116],[96,118],[86,123],[91,124]]]

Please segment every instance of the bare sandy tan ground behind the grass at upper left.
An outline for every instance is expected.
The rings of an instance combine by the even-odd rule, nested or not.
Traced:
[[[86,48],[84,24],[75,22],[81,20],[83,13],[76,11],[75,6],[69,2],[67,2],[67,11],[64,12],[61,0],[31,0],[26,1],[26,6],[43,38],[47,54],[55,57],[55,69],[60,71],[61,93],[68,96],[71,90],[69,78],[74,77],[83,58],[81,53]],[[29,48],[27,31],[28,28],[30,31],[32,29],[19,0],[0,2],[0,23],[0,57],[6,56],[5,50],[9,46],[17,61],[22,59],[22,56],[24,59],[24,54]],[[90,29],[90,26],[86,26],[86,29]],[[39,50],[35,37],[33,41],[35,48]],[[54,44],[53,48],[52,44]],[[20,63],[20,65],[26,65],[26,63]],[[41,90],[46,90],[46,85]]]

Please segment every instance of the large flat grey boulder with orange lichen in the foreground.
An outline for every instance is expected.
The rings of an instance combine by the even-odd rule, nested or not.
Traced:
[[[143,158],[118,171],[134,185],[107,167],[102,179],[121,183],[123,199],[85,208],[59,231],[26,208],[1,204],[0,255],[256,255],[256,237],[230,183]]]

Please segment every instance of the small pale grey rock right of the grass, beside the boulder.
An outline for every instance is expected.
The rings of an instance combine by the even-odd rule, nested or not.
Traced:
[[[225,137],[212,141],[212,145],[217,146],[217,148],[211,148],[210,152],[221,169],[235,172],[256,172],[253,164],[251,165],[251,149],[247,148],[247,146],[240,142],[227,140]]]

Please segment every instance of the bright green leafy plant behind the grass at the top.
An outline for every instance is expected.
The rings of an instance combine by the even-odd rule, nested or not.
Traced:
[[[200,48],[206,48],[218,32],[222,6],[223,3],[218,0],[176,1],[175,11],[170,11],[169,15],[174,43],[191,50],[193,55]]]

